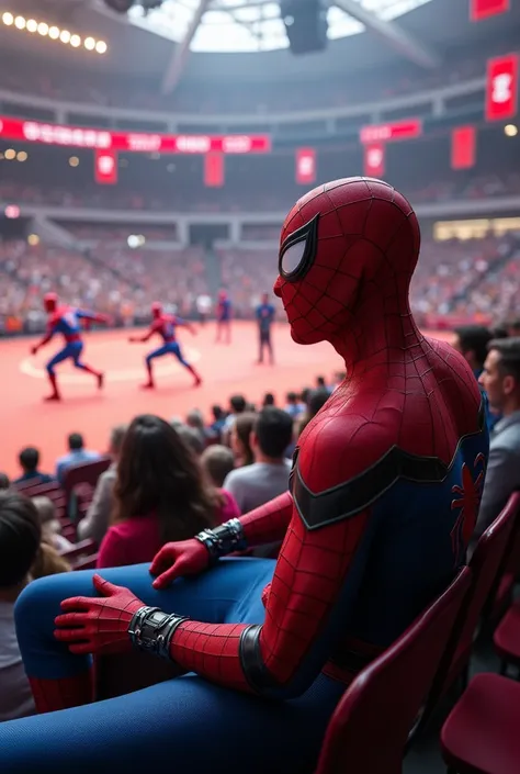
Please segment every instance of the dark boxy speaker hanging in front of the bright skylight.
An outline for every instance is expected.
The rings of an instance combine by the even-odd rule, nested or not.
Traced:
[[[283,0],[280,12],[293,54],[325,51],[328,23],[321,0]]]

